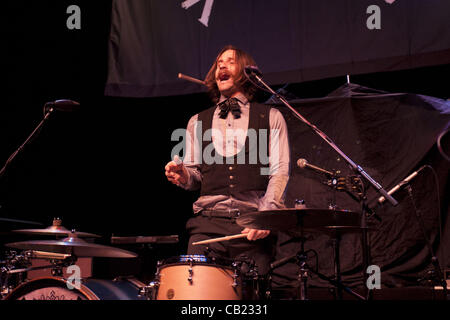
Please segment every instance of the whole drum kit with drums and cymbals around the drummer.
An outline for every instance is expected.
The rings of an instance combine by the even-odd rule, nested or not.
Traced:
[[[3,220],[6,221],[6,220]],[[16,221],[17,222],[17,221]],[[346,210],[279,209],[242,214],[236,222],[242,227],[296,233],[308,231],[355,232],[360,229],[360,215]],[[22,223],[28,223],[22,221]],[[32,224],[32,222],[29,222]],[[1,298],[4,300],[262,300],[270,299],[270,280],[258,275],[252,261],[220,260],[207,255],[181,255],[158,261],[150,283],[136,277],[117,277],[113,280],[81,278],[80,285],[71,286],[71,279],[63,268],[76,266],[79,258],[136,258],[134,252],[113,246],[96,244],[98,235],[69,230],[60,219],[42,229],[17,229],[12,232],[27,235],[55,236],[55,240],[30,240],[5,244],[10,251],[1,267]],[[193,243],[207,244],[243,238],[245,234],[230,235]],[[176,243],[178,236],[112,237],[111,244]],[[302,248],[293,257],[271,264],[280,266],[288,260],[299,265],[300,297],[306,296],[306,278],[311,270]],[[31,266],[35,259],[49,262]],[[52,276],[27,279],[36,269],[51,270]],[[339,269],[338,269],[339,270]],[[313,271],[313,270],[311,270]],[[325,277],[323,275],[319,275]],[[270,278],[270,276],[269,276]],[[326,278],[326,277],[325,277]],[[336,287],[339,275],[326,278]],[[73,279],[72,279],[73,280]],[[211,285],[214,284],[214,285]],[[350,292],[352,293],[352,292]],[[355,294],[357,295],[357,294]]]

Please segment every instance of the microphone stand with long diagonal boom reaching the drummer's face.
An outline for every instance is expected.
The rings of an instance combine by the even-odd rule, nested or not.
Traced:
[[[319,128],[317,128],[314,124],[306,120],[305,117],[303,117],[297,110],[294,109],[287,101],[286,99],[281,96],[279,93],[274,91],[270,86],[268,86],[261,77],[255,72],[254,70],[247,71],[245,70],[245,75],[247,76],[248,80],[252,83],[254,83],[250,78],[251,76],[254,77],[261,85],[264,86],[273,96],[278,98],[289,110],[292,111],[292,113],[301,120],[304,124],[306,124],[312,131],[314,131],[320,138],[322,138],[328,145],[330,145],[350,166],[351,170],[355,172],[355,174],[364,177],[374,188],[377,190],[378,193],[380,193],[382,196],[385,197],[386,200],[388,200],[393,206],[398,205],[397,200],[395,200],[390,194],[387,193],[387,191],[378,183],[376,182],[360,165],[356,164],[352,159],[350,159],[339,147],[333,142],[333,140],[330,139],[323,131],[321,131]],[[251,75],[249,75],[249,74]],[[259,87],[257,85],[257,87]],[[368,240],[367,240],[367,217],[366,217],[366,197],[365,195],[361,197],[361,230],[362,230],[362,249],[363,249],[363,274],[364,279],[366,280],[366,273],[367,267],[370,265],[370,257],[368,254]],[[368,288],[367,288],[368,289]],[[370,290],[368,290],[370,291]],[[369,298],[369,292],[367,293],[367,298]]]

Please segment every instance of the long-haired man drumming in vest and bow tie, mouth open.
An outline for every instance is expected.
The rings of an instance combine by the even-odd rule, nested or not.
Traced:
[[[257,89],[244,67],[255,65],[234,46],[220,51],[205,79],[215,104],[189,120],[183,162],[170,161],[165,174],[186,190],[200,189],[194,217],[187,222],[187,253],[247,258],[261,275],[269,271],[275,237],[269,230],[243,228],[235,219],[247,212],[284,208],[289,143],[282,114],[254,102]],[[246,237],[192,245],[240,233]]]

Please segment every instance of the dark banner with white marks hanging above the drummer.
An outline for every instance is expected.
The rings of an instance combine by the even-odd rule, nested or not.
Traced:
[[[199,92],[233,44],[269,84],[450,62],[446,0],[113,1],[105,93],[150,97]]]

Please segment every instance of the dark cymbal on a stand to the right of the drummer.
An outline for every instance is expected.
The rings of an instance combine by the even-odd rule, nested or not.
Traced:
[[[245,228],[275,231],[345,230],[360,227],[360,214],[348,210],[276,209],[244,213],[236,223]]]

